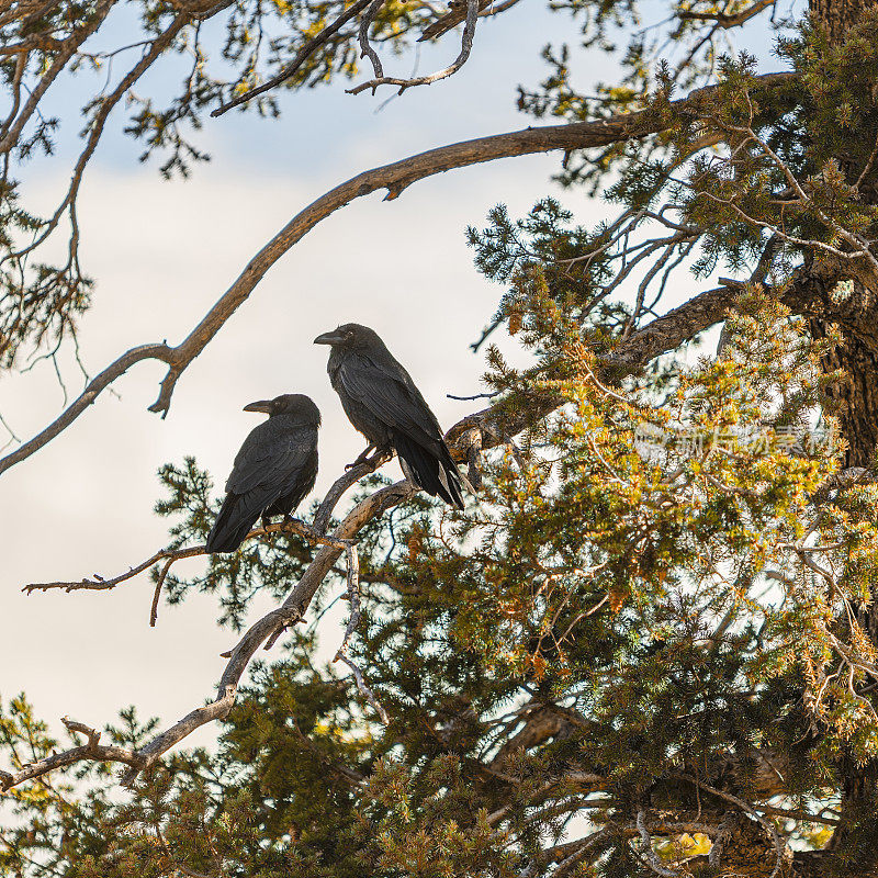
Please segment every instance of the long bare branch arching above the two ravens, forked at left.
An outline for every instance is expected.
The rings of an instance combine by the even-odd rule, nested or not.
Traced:
[[[765,74],[756,77],[755,88],[772,89],[793,81],[796,77],[797,75],[791,72]],[[672,106],[678,112],[697,114],[700,102],[714,91],[714,87],[698,89],[687,98],[673,102]],[[663,123],[658,120],[649,117],[644,112],[637,112],[619,114],[596,122],[526,128],[438,147],[352,177],[296,214],[250,260],[240,275],[183,341],[172,348],[165,344],[144,345],[120,357],[95,376],[86,391],[53,424],[23,446],[0,458],[0,473],[26,460],[53,440],[72,424],[103,390],[134,363],[142,360],[159,360],[168,364],[168,372],[161,382],[159,396],[149,406],[150,412],[159,413],[165,417],[170,408],[171,396],[180,375],[249,297],[268,270],[318,223],[354,199],[380,189],[386,189],[386,200],[392,200],[398,198],[412,183],[454,168],[555,149],[572,150],[607,146],[619,140],[646,137],[661,131]],[[717,319],[713,319],[712,323],[716,323]],[[631,340],[635,337],[637,335]]]

